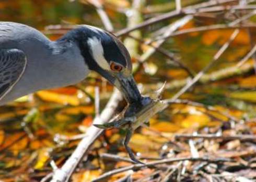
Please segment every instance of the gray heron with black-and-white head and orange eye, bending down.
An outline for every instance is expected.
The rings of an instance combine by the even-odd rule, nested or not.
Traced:
[[[91,70],[128,102],[141,99],[130,55],[111,33],[80,25],[52,42],[27,25],[0,22],[0,105],[37,90],[76,84]]]

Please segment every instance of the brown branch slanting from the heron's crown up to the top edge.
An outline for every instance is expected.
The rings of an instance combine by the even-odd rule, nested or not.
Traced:
[[[117,32],[116,35],[121,36],[121,35],[127,34],[129,32],[132,32],[134,30],[147,27],[148,25],[158,23],[160,21],[167,20],[167,19],[179,16],[179,15],[184,15],[183,11],[185,11],[185,10],[195,9],[195,8],[196,9],[197,8],[204,8],[204,7],[208,7],[208,6],[217,5],[218,3],[229,3],[229,2],[234,2],[234,1],[236,1],[236,0],[219,0],[218,2],[217,1],[210,1],[210,2],[205,2],[205,3],[200,3],[200,4],[188,6],[186,8],[181,9],[180,12],[177,12],[176,10],[170,11],[170,12],[167,12],[166,14],[163,14],[163,15],[160,15],[160,16],[157,16],[157,17],[154,17],[154,18],[150,18],[150,19],[148,19],[148,20],[146,20],[146,21],[144,21],[144,22],[142,22],[138,25],[135,25],[134,27],[123,29],[123,30]]]

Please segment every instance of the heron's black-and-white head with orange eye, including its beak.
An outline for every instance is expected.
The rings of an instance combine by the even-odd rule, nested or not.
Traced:
[[[141,100],[132,76],[131,57],[122,42],[113,34],[96,27],[84,25],[82,29],[86,34],[82,55],[89,69],[117,87],[127,102]]]

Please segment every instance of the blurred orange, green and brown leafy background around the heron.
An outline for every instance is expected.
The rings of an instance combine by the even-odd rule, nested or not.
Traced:
[[[110,31],[115,33],[168,12],[179,11],[177,2],[1,0],[0,20],[30,25],[54,41],[73,29],[75,24],[112,29],[102,22],[102,9],[113,26]],[[213,4],[203,6],[209,2]],[[214,9],[216,7],[220,9]],[[120,36],[130,50],[136,82],[142,87],[142,93],[148,94],[167,81],[163,98],[170,99],[193,76],[211,65],[176,103],[150,119],[150,126],[138,128],[130,146],[138,157],[150,161],[193,157],[192,142],[192,148],[199,156],[226,157],[236,161],[221,166],[214,164],[214,170],[204,168],[203,173],[219,174],[216,179],[225,180],[222,177],[224,172],[237,173],[253,181],[256,179],[255,139],[246,142],[241,142],[243,140],[239,137],[192,140],[178,134],[256,134],[256,57],[255,51],[251,51],[256,43],[254,1],[182,0],[181,8],[199,10],[188,11],[191,16],[180,14],[133,31],[130,36]],[[220,53],[225,44],[227,48]],[[40,181],[51,173],[51,160],[62,166],[77,146],[79,136],[86,133],[95,118],[97,89],[102,110],[113,87],[96,73],[91,73],[77,85],[41,90],[0,107],[0,179]],[[120,102],[118,111],[124,105],[124,101]],[[106,171],[129,165],[100,158],[102,153],[127,157],[122,145],[124,133],[122,129],[105,131],[94,142],[88,158],[78,166],[73,181],[91,181]],[[197,165],[182,163],[178,166],[177,163],[177,170],[166,181],[207,181],[199,173],[202,168],[193,173]],[[178,170],[182,167],[187,169],[183,174]],[[115,181],[130,176],[134,181],[164,181],[167,172],[158,171],[153,175],[157,171],[156,168],[142,168],[105,180]]]

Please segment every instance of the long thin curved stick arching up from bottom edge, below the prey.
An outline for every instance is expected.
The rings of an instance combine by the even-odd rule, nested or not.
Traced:
[[[216,158],[216,159],[210,159],[210,158],[175,158],[175,159],[162,159],[159,161],[154,161],[154,162],[148,162],[146,164],[134,164],[134,165],[130,165],[130,166],[126,166],[126,167],[121,167],[118,168],[116,170],[112,170],[109,171],[107,173],[104,173],[103,175],[101,175],[100,177],[92,180],[93,182],[108,178],[114,174],[118,174],[118,173],[122,173],[125,171],[129,171],[129,170],[138,170],[142,167],[155,167],[156,165],[159,164],[168,164],[168,163],[172,163],[172,162],[179,162],[179,161],[206,161],[206,162],[210,162],[210,163],[217,163],[217,162],[230,162],[230,159],[225,159],[225,158]]]

